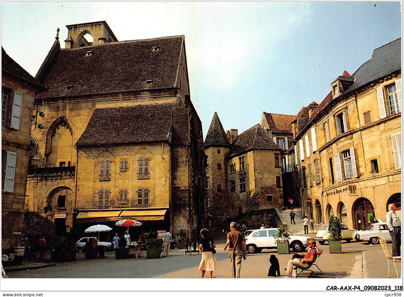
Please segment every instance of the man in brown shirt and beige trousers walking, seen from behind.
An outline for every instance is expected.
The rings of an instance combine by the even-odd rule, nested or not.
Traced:
[[[224,250],[229,247],[231,262],[231,277],[240,278],[241,259],[246,257],[246,243],[241,232],[237,231],[236,222],[230,223],[230,232],[227,233],[227,241]]]

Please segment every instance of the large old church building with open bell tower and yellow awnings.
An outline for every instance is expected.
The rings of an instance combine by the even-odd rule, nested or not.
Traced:
[[[48,236],[133,218],[140,231],[204,226],[202,125],[184,36],[118,42],[105,21],[68,25],[37,79],[44,129],[32,135],[26,208]],[[91,38],[86,36],[90,34]]]

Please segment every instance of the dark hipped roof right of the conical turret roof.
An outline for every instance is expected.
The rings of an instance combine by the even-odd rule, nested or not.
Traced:
[[[280,150],[261,125],[257,124],[236,137],[227,157],[236,156],[253,149]]]

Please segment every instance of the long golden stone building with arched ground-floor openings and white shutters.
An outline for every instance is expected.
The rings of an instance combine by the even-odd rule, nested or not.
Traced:
[[[316,223],[335,215],[364,230],[371,217],[385,220],[390,203],[400,213],[401,39],[337,77],[295,142],[301,201]]]

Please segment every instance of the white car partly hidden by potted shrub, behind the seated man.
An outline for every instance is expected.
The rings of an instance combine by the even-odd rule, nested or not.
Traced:
[[[262,249],[276,249],[277,244],[274,236],[277,233],[278,228],[253,230],[246,236],[247,253],[260,253]],[[310,237],[307,236],[291,235],[289,239],[289,248],[293,249],[293,251],[304,251],[309,245],[309,239]]]

